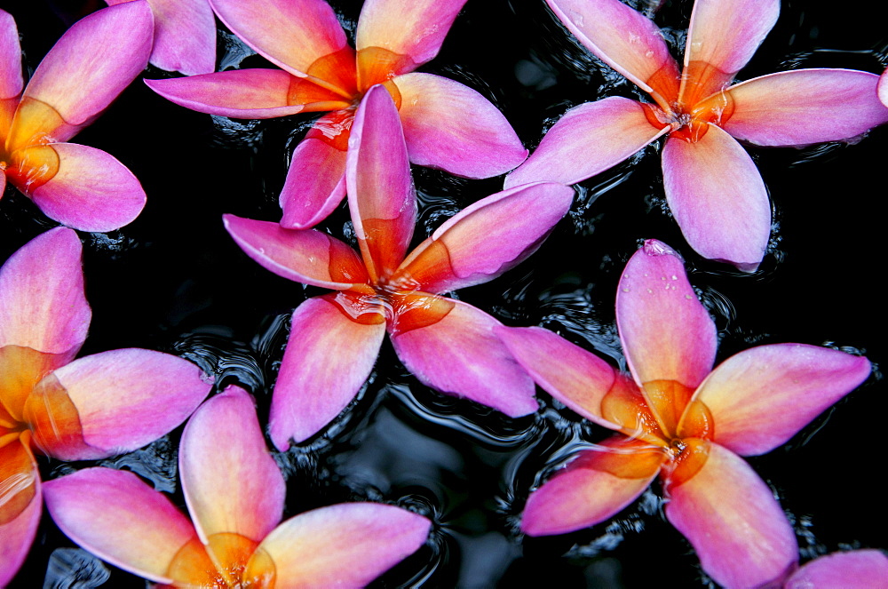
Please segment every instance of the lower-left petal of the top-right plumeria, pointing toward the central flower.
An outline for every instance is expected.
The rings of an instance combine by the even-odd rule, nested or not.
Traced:
[[[612,96],[573,107],[545,134],[540,146],[505,187],[546,180],[576,184],[613,167],[669,131],[648,121],[636,100]]]

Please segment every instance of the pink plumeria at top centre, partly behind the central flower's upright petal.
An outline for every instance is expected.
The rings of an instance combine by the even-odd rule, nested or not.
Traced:
[[[149,80],[165,98],[211,115],[272,118],[332,111],[297,146],[281,190],[281,225],[313,227],[345,197],[345,159],[355,108],[384,84],[398,105],[410,161],[457,176],[489,178],[527,150],[478,92],[413,73],[431,60],[465,0],[368,0],[357,52],[324,0],[211,0],[234,34],[283,68]]]

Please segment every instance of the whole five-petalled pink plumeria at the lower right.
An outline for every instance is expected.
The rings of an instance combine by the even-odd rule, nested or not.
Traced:
[[[583,529],[630,505],[657,474],[667,519],[720,585],[779,582],[797,558],[789,521],[740,456],[756,456],[867,378],[866,358],[802,344],[758,346],[712,369],[716,328],[663,243],[620,281],[616,320],[630,375],[551,331],[497,332],[537,384],[618,434],[531,493],[521,529]]]

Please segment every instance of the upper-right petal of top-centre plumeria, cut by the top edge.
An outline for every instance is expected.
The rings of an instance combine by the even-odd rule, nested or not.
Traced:
[[[368,0],[361,8],[355,44],[358,51],[381,47],[407,56],[413,71],[438,54],[465,0]]]

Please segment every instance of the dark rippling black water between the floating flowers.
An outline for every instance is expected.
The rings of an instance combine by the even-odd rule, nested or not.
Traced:
[[[360,2],[331,2],[346,28]],[[879,73],[888,28],[878,4],[829,11],[784,2],[781,19],[741,78],[789,68],[857,68]],[[86,4],[0,2],[20,27],[33,70]],[[656,17],[684,40],[690,2],[667,1]],[[223,65],[264,60],[229,36]],[[245,59],[244,59],[245,58]],[[638,97],[602,71],[567,36],[542,0],[469,0],[438,58],[424,71],[455,78],[492,99],[534,147],[567,107],[606,95]],[[146,77],[167,76],[151,69]],[[280,218],[277,195],[288,151],[310,116],[265,122],[212,119],[177,107],[137,81],[76,142],[105,149],[142,181],[148,204],[129,227],[82,234],[87,298],[93,309],[83,354],[142,346],[180,354],[258,398],[265,424],[287,336],[289,313],[321,291],[272,275],[247,259],[222,228],[231,212]],[[583,182],[570,216],[532,258],[459,298],[510,325],[543,325],[624,365],[614,327],[620,270],[639,240],[669,243],[718,324],[718,360],[750,346],[796,341],[860,350],[874,376],[788,444],[750,458],[797,529],[802,560],[848,547],[886,548],[884,489],[884,187],[888,129],[855,145],[803,150],[751,148],[775,211],[772,248],[754,275],[700,259],[665,211],[659,147]],[[502,179],[464,180],[415,169],[425,232]],[[322,227],[348,235],[340,208]],[[0,202],[0,259],[53,223],[8,188]],[[527,493],[547,468],[603,437],[540,394],[534,416],[508,419],[417,383],[387,342],[358,401],[313,441],[277,456],[288,477],[286,516],[320,505],[373,499],[409,505],[435,521],[432,538],[378,586],[571,587],[706,585],[690,545],[662,516],[656,483],[611,521],[558,537],[518,533]],[[178,490],[181,428],[147,449],[102,461],[130,468],[160,490]],[[43,460],[44,480],[93,463]],[[543,473],[543,474],[541,474]],[[342,563],[348,566],[347,562]],[[47,570],[52,574],[47,576]],[[108,577],[108,574],[110,576]],[[44,513],[31,555],[12,586],[84,587],[143,582],[91,561]]]

